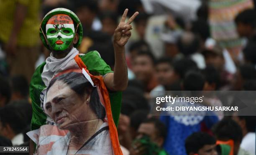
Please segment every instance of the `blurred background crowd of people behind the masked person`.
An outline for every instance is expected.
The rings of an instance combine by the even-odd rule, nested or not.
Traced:
[[[129,81],[117,127],[124,155],[256,154],[256,116],[155,116],[151,103],[164,91],[256,90],[253,0],[0,1],[1,146],[29,145],[29,83],[50,55],[39,39],[40,20],[59,7],[72,10],[81,21],[77,50],[98,51],[112,70],[120,16],[125,8],[128,16],[139,12],[125,46]],[[215,97],[207,102],[235,104]]]

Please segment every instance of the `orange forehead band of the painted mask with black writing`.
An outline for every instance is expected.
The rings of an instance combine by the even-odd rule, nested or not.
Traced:
[[[46,24],[74,24],[73,20],[64,14],[53,15]]]

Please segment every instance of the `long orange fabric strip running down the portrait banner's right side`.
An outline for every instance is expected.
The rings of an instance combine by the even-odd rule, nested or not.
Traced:
[[[111,143],[112,143],[112,147],[114,150],[115,155],[123,155],[121,148],[120,148],[120,144],[119,144],[119,140],[118,140],[118,132],[115,126],[115,122],[113,120],[112,117],[112,112],[111,112],[111,106],[110,106],[110,98],[109,98],[109,93],[108,93],[108,89],[105,86],[105,83],[103,81],[102,76],[93,76],[92,74],[89,73],[89,71],[87,70],[87,67],[85,66],[84,62],[82,61],[82,59],[79,57],[79,55],[74,57],[74,60],[76,61],[77,65],[79,66],[80,69],[84,69],[87,74],[90,75],[93,83],[97,86],[99,86],[101,95],[102,95],[102,99],[104,101],[104,107],[106,110],[106,114],[108,117],[108,126],[109,126],[109,132],[110,132],[110,139],[111,139]]]

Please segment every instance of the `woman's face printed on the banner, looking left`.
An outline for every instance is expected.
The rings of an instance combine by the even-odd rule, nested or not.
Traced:
[[[44,110],[59,129],[68,130],[78,122],[89,121],[87,119],[91,111],[87,102],[88,94],[81,97],[63,81],[56,81],[46,95]]]

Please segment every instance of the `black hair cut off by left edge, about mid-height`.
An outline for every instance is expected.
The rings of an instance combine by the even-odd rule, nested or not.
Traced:
[[[6,98],[5,104],[8,104],[11,99],[10,83],[3,76],[0,76],[0,94]]]

